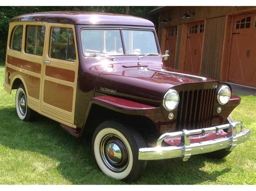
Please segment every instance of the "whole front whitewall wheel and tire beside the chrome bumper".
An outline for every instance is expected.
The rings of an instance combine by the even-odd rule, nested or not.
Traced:
[[[92,137],[96,163],[104,174],[117,180],[132,182],[139,178],[146,161],[138,160],[139,148],[145,142],[138,132],[117,122],[103,122]]]

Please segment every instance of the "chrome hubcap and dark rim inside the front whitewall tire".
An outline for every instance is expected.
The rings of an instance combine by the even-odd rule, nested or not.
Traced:
[[[122,139],[106,135],[100,143],[100,155],[104,164],[113,172],[122,172],[129,163],[129,152]]]

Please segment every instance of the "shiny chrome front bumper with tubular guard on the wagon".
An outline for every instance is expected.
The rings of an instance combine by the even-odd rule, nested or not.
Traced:
[[[237,126],[240,126],[240,133],[237,133]],[[207,140],[205,142],[190,144],[191,135],[205,135],[208,132],[216,132],[223,129],[232,129],[232,134],[224,138]],[[243,143],[250,138],[251,130],[244,130],[242,122],[234,122],[224,125],[212,126],[211,128],[183,130],[178,132],[164,133],[157,140],[156,147],[140,148],[139,160],[160,160],[183,157],[183,161],[187,161],[191,155],[203,154],[218,151],[226,148],[232,151],[237,144]],[[180,146],[164,146],[161,144],[166,138],[181,137]]]

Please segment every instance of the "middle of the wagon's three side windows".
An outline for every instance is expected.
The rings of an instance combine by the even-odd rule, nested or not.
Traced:
[[[44,49],[45,26],[26,26],[25,52],[42,56]]]

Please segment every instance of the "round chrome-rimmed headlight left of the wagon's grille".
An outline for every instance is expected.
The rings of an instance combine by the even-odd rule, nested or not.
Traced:
[[[179,94],[176,90],[170,89],[164,95],[163,106],[167,110],[173,110],[179,104]]]

